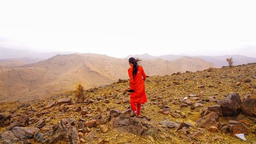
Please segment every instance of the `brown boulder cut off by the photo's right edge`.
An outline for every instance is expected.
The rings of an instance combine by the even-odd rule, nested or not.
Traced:
[[[244,115],[255,117],[256,116],[256,100],[245,99],[241,109]]]

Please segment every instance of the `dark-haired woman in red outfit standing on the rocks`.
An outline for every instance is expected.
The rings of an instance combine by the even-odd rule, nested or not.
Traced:
[[[130,68],[128,69],[128,75],[130,78],[130,87],[126,91],[130,92],[130,102],[132,106],[131,117],[137,114],[137,117],[140,117],[140,108],[141,104],[147,102],[146,93],[145,93],[145,84],[146,74],[142,66],[138,65],[140,59],[130,58],[129,64]],[[136,106],[137,105],[137,111]]]

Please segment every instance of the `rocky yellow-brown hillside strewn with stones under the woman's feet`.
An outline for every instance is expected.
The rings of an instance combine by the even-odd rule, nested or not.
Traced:
[[[255,143],[256,64],[148,77],[142,117],[127,80],[0,105],[0,143]],[[235,135],[244,133],[247,140]]]

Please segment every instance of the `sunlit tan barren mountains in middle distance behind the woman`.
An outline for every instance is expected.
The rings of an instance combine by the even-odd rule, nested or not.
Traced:
[[[190,57],[175,61],[143,60],[140,64],[148,76],[165,76],[178,71],[216,67],[202,59]],[[56,55],[32,64],[0,67],[0,101],[24,102],[46,98],[51,94],[73,90],[77,83],[81,83],[86,89],[111,84],[118,79],[128,79],[129,67],[127,59],[97,54]]]

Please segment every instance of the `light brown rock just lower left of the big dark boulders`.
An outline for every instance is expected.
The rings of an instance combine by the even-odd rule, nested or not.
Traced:
[[[219,115],[216,112],[210,112],[204,117],[197,119],[197,127],[199,128],[209,128],[211,126],[218,127],[219,125]]]

